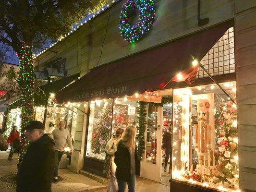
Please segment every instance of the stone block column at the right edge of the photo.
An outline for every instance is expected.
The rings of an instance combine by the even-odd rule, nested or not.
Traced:
[[[240,188],[256,192],[256,0],[235,0]]]

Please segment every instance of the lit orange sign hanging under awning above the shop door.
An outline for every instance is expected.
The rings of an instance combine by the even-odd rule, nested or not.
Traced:
[[[160,91],[147,92],[145,91],[142,94],[134,94],[132,96],[128,96],[128,100],[132,101],[145,101],[152,103],[161,103],[162,96]]]

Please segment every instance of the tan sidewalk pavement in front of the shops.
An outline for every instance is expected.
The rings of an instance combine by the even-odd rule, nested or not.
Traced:
[[[8,160],[9,150],[0,151],[0,192],[15,192],[18,154],[13,154],[13,160]],[[52,192],[107,192],[107,184],[76,174],[68,169],[59,169],[59,181],[52,183]],[[127,187],[126,187],[127,188]],[[128,190],[126,189],[128,192]],[[170,192],[170,187],[137,178],[136,192]]]

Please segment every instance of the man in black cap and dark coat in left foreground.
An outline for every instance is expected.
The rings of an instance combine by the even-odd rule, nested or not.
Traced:
[[[18,170],[16,192],[51,192],[54,141],[44,134],[44,126],[37,120],[29,122],[24,134],[30,144]]]

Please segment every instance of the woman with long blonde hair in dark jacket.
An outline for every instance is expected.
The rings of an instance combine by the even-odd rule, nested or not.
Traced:
[[[129,192],[135,191],[136,175],[140,175],[140,161],[135,147],[136,127],[128,126],[118,142],[114,162],[118,192],[124,192],[126,183]]]

